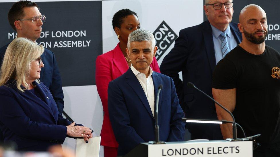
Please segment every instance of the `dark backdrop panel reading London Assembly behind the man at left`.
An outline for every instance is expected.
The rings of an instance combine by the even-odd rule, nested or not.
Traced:
[[[7,13],[12,4],[1,3],[0,11]],[[46,22],[36,42],[55,53],[63,86],[95,85],[95,61],[102,54],[102,1],[37,4]],[[13,39],[15,31],[7,14],[0,15],[0,23],[3,46]]]

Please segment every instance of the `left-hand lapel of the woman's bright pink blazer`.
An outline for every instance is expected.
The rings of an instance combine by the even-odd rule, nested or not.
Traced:
[[[113,51],[114,51],[114,57],[112,59],[113,63],[115,67],[118,68],[120,73],[124,74],[128,69],[128,65],[127,65],[127,61],[125,60],[125,57],[123,56],[123,52],[120,49],[120,43],[118,43],[118,45],[114,48]]]

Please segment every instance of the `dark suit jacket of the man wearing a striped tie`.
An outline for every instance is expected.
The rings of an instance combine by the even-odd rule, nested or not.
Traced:
[[[236,23],[230,23],[231,32],[239,44],[242,36]],[[180,104],[187,118],[217,119],[215,104],[195,89],[187,87],[192,82],[197,88],[212,96],[212,72],[216,66],[212,29],[209,21],[182,29],[174,48],[164,57],[160,71],[173,78]],[[182,71],[183,82],[178,72]],[[219,126],[187,124],[193,139],[221,139]],[[197,134],[198,137],[195,136]]]

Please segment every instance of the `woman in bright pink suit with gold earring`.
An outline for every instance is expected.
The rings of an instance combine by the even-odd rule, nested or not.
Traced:
[[[127,57],[125,49],[127,48],[128,35],[140,29],[140,23],[137,14],[129,9],[118,11],[112,20],[113,29],[120,42],[117,46],[96,59],[96,86],[101,98],[104,119],[101,130],[101,145],[104,146],[104,157],[116,157],[118,143],[116,142],[108,113],[108,84],[127,71],[131,61]],[[160,72],[158,62],[153,58],[151,63],[153,71]]]

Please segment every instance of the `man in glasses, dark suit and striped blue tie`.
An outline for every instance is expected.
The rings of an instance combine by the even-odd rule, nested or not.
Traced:
[[[215,119],[215,104],[200,92],[187,87],[193,82],[212,97],[214,67],[242,40],[237,24],[232,23],[232,0],[205,0],[208,21],[182,29],[174,48],[163,59],[160,71],[173,78],[180,104],[187,118]],[[183,82],[178,72],[182,71]],[[191,139],[223,139],[219,125],[187,124]]]

